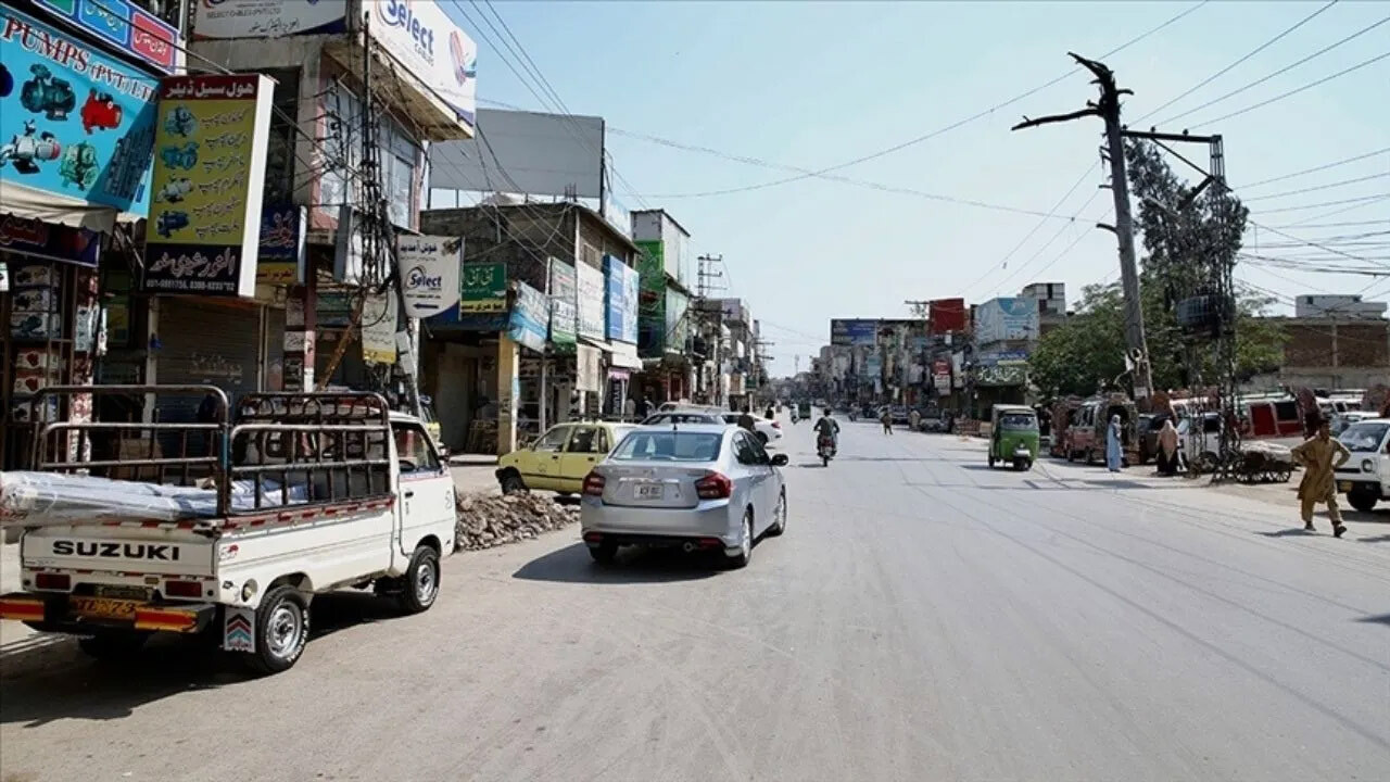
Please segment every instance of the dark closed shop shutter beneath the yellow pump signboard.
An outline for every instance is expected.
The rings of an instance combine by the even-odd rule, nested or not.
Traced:
[[[158,383],[217,385],[234,405],[242,394],[257,391],[260,314],[260,306],[161,298],[156,356]],[[160,420],[193,420],[200,402],[196,395],[168,399],[160,405]]]

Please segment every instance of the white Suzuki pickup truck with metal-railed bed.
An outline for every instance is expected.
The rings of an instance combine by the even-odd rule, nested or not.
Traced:
[[[83,395],[124,395],[145,420],[64,419],[93,409],[74,405]],[[303,653],[316,594],[371,587],[418,612],[439,593],[453,480],[421,422],[379,395],[250,394],[229,409],[214,387],[88,385],[38,399],[60,415],[38,427],[32,472],[0,473],[0,526],[24,530],[24,591],[0,597],[0,618],[76,635],[95,657],[208,633],[275,673]],[[199,423],[150,413],[197,399]]]

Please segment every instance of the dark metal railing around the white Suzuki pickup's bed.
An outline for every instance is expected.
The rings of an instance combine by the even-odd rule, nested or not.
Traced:
[[[195,422],[43,423],[32,466],[206,487],[215,491],[218,516],[391,494],[391,409],[379,394],[247,394],[235,419],[227,394],[213,385],[57,385],[35,401],[68,398],[58,408],[72,410],[78,395],[125,395],[157,419],[161,398],[192,394],[204,401]]]

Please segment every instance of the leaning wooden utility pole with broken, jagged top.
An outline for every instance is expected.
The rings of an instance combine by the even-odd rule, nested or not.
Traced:
[[[1129,358],[1134,362],[1134,398],[1145,401],[1154,391],[1154,374],[1148,362],[1148,342],[1144,338],[1144,306],[1138,291],[1138,266],[1134,260],[1134,221],[1130,216],[1129,179],[1125,173],[1125,141],[1120,125],[1120,96],[1134,95],[1130,89],[1119,89],[1115,85],[1115,72],[1104,63],[1087,60],[1074,51],[1069,51],[1073,60],[1095,75],[1094,83],[1101,88],[1099,102],[1086,102],[1086,109],[1069,114],[1054,114],[1023,121],[1012,129],[1036,128],[1049,122],[1068,122],[1081,117],[1099,117],[1105,121],[1105,143],[1109,150],[1111,163],[1111,195],[1115,198],[1115,232],[1119,239],[1120,255],[1120,288],[1125,294],[1125,344],[1129,348]],[[1108,225],[1102,225],[1108,228]]]

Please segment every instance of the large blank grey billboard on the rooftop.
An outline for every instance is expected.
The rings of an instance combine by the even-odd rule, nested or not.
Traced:
[[[517,192],[602,198],[602,117],[481,109],[474,139],[430,145],[430,186],[477,191],[506,171]]]

